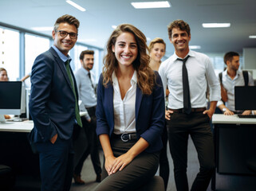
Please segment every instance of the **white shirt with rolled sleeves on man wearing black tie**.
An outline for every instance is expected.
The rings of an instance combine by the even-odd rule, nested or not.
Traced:
[[[210,88],[210,101],[218,101],[220,96],[219,80],[215,75],[211,60],[203,53],[189,51],[187,59],[187,75],[191,96],[191,107],[207,107],[207,84]],[[177,60],[174,53],[160,65],[159,73],[163,81],[164,95],[166,88],[170,91],[168,106],[172,109],[183,108],[183,62]]]

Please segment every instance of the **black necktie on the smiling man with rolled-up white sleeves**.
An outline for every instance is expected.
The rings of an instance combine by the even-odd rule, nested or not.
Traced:
[[[187,68],[186,68],[186,61],[187,56],[185,59],[178,58],[177,60],[183,61],[182,66],[182,80],[183,80],[183,110],[185,113],[190,114],[191,113],[191,96],[189,92],[189,84],[188,84],[188,76],[187,76]]]

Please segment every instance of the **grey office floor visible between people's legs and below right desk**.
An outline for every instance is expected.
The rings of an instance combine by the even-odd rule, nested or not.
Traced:
[[[170,177],[167,186],[167,191],[175,191],[175,181],[173,176],[173,164],[169,148],[167,150],[169,165],[170,165]],[[100,152],[101,162],[103,161],[103,153]],[[199,171],[199,162],[197,159],[197,153],[195,146],[189,139],[188,145],[188,167],[187,167],[187,179],[191,188],[192,182],[195,179],[196,173]],[[96,174],[93,170],[91,158],[87,158],[83,166],[81,178],[86,182],[85,185],[72,185],[71,191],[91,191],[98,184],[95,182]],[[216,190],[218,191],[256,191],[256,177],[240,177],[230,175],[216,176]],[[209,185],[207,191],[211,191]]]

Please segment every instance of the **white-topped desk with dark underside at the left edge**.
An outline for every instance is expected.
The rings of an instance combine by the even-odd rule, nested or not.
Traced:
[[[39,157],[33,154],[28,140],[32,128],[32,121],[0,123],[0,164],[12,168],[15,190],[40,190]]]

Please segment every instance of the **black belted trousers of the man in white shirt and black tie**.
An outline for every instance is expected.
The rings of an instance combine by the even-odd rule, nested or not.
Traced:
[[[191,190],[205,191],[215,170],[215,153],[210,118],[203,112],[190,115],[174,112],[168,123],[171,157],[174,163],[175,185],[177,191],[187,191],[187,140],[191,135],[198,153],[200,169]]]

